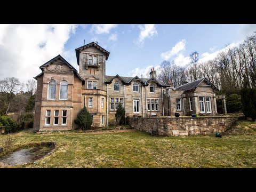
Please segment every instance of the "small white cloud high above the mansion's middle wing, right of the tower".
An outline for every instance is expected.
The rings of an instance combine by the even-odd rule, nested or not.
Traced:
[[[139,25],[138,28],[140,29],[140,35],[135,43],[139,46],[144,44],[146,38],[153,39],[154,36],[157,35],[157,30],[154,24],[145,24],[144,27]]]

